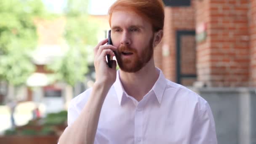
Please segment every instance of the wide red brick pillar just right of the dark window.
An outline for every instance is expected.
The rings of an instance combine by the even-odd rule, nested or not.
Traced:
[[[248,0],[197,1],[197,24],[207,39],[197,45],[199,81],[210,86],[248,86]]]

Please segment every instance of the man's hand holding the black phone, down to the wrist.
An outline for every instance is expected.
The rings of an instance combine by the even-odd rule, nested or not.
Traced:
[[[106,56],[115,56],[113,51],[116,51],[117,48],[113,45],[104,45],[107,43],[107,39],[102,40],[94,48],[94,67],[96,72],[96,83],[103,83],[109,87],[115,83],[116,80],[116,67],[117,63],[115,60],[112,60],[112,68],[109,68],[106,61]]]

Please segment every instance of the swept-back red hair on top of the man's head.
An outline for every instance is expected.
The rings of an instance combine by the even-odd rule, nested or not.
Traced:
[[[162,0],[117,0],[109,8],[109,25],[115,10],[130,10],[147,19],[152,24],[153,31],[163,29],[164,4]]]

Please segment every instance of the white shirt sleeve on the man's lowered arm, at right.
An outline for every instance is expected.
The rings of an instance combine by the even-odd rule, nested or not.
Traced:
[[[190,144],[218,144],[215,122],[208,103],[205,104],[192,125]]]

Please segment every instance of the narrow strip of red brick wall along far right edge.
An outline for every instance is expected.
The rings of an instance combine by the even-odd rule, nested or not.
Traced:
[[[256,86],[256,1],[250,0],[250,86]]]

